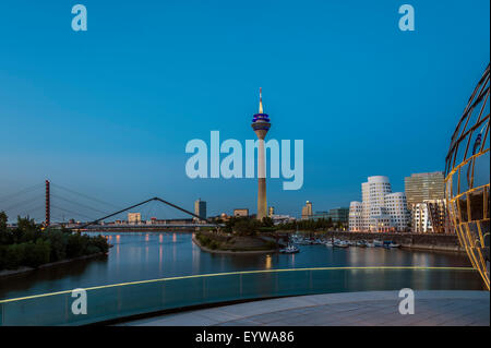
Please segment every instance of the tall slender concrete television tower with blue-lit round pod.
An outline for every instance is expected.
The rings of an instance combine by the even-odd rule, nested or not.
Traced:
[[[252,129],[258,135],[258,219],[262,220],[267,216],[266,203],[266,164],[264,156],[264,139],[271,128],[270,117],[263,112],[262,88],[260,88],[260,109],[259,113],[252,119]]]

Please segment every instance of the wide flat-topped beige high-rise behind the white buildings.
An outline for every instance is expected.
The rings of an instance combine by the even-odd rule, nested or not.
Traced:
[[[404,179],[409,209],[427,200],[444,200],[445,182],[442,171],[412,173]]]

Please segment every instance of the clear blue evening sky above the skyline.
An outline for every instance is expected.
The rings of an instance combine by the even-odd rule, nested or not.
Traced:
[[[0,3],[0,196],[49,178],[118,205],[254,211],[255,180],[191,180],[184,146],[254,139],[260,86],[268,139],[304,142],[303,188],[267,182],[278,213],[347,206],[373,175],[402,191],[444,169],[490,57],[487,0],[81,0],[85,33],[75,3]]]

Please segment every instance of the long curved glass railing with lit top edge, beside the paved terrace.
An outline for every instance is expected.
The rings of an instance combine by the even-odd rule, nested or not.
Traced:
[[[324,292],[431,289],[470,267],[318,267],[190,275],[85,288],[87,313],[74,314],[73,290],[0,300],[1,325],[84,325],[199,304]],[[382,277],[380,272],[388,273]],[[422,274],[421,274],[422,272]],[[456,275],[459,274],[459,276]],[[417,277],[418,281],[415,281]],[[432,281],[424,281],[431,277]],[[433,281],[436,280],[436,281]],[[419,284],[419,285],[418,285]],[[416,285],[416,287],[415,287]],[[440,288],[439,288],[440,289]]]

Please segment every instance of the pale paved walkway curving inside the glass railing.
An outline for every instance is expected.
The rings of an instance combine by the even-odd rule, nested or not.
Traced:
[[[489,326],[488,291],[415,291],[415,314],[399,314],[398,291],[280,298],[168,314],[122,325],[145,326]]]

